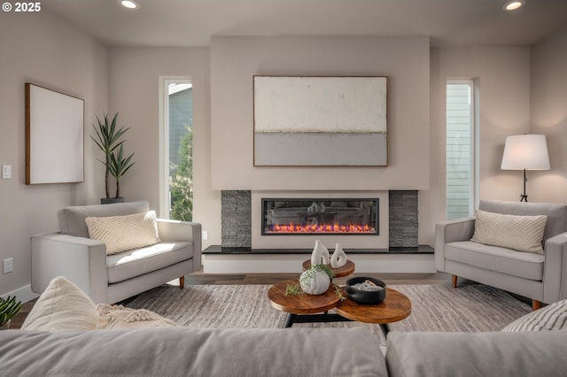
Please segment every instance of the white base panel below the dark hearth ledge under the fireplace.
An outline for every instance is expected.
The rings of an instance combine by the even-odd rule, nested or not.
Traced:
[[[300,254],[206,254],[204,273],[300,273]],[[435,273],[433,254],[351,254],[357,273]]]

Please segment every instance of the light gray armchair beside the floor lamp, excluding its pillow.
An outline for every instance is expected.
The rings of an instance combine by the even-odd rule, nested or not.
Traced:
[[[567,206],[550,203],[480,201],[479,210],[512,215],[547,215],[543,254],[470,241],[475,218],[440,222],[435,233],[438,271],[532,299],[532,308],[567,298]]]

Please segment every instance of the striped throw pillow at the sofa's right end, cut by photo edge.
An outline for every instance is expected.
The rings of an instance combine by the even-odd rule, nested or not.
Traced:
[[[502,328],[502,331],[507,332],[553,330],[567,330],[567,300],[528,313]]]

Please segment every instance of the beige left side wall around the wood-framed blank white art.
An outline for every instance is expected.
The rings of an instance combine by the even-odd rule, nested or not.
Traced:
[[[13,258],[13,273],[0,270],[0,296],[29,293],[30,241],[58,229],[57,211],[92,203],[97,162],[85,135],[85,183],[25,185],[24,83],[84,99],[85,129],[107,107],[106,48],[47,10],[37,14],[0,12],[0,164],[12,165],[12,179],[0,180],[0,265]]]

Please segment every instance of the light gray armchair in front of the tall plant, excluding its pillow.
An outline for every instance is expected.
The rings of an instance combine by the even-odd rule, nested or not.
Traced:
[[[66,207],[58,212],[60,231],[31,237],[32,290],[42,293],[51,279],[65,276],[95,303],[113,304],[201,268],[201,225],[157,219],[159,243],[106,255],[89,238],[87,217],[148,212],[146,201]]]

